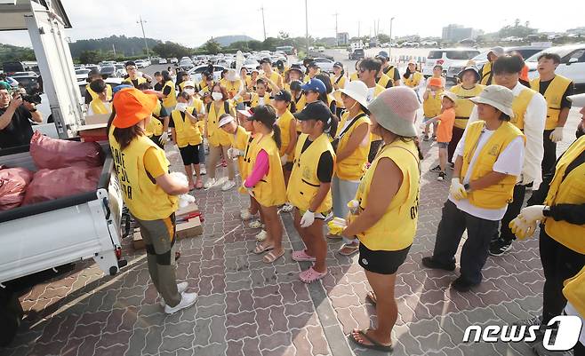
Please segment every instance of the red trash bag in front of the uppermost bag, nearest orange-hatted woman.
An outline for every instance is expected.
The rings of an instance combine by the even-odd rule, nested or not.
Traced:
[[[59,199],[98,188],[101,167],[66,167],[59,170],[37,170],[27,188],[22,205]]]

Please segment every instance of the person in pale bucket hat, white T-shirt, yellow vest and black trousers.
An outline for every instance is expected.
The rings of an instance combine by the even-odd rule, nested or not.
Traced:
[[[490,241],[512,199],[522,172],[525,137],[509,123],[514,94],[500,85],[486,87],[477,105],[479,121],[470,123],[455,150],[449,199],[437,230],[432,257],[422,265],[453,271],[455,252],[467,229],[461,252],[461,275],[451,286],[467,292],[482,281]]]

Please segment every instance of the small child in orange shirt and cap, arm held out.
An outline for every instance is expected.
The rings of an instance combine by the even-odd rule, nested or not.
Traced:
[[[453,138],[453,125],[455,123],[456,106],[455,102],[457,100],[457,95],[451,91],[444,91],[442,98],[441,113],[422,124],[424,129],[428,130],[430,124],[438,123],[435,132],[437,132],[439,164],[437,167],[430,169],[431,172],[438,173],[438,181],[443,181],[447,178],[445,173],[448,156],[447,149],[449,147],[449,142],[451,142],[451,138]]]

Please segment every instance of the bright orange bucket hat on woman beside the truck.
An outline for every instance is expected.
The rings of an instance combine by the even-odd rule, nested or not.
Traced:
[[[152,115],[156,107],[156,95],[145,94],[135,88],[124,88],[114,95],[113,105],[116,117],[112,124],[118,129],[126,129]]]

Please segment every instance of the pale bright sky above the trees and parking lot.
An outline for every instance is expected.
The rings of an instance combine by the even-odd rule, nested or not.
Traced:
[[[73,28],[67,34],[73,40],[101,38],[111,35],[142,36],[140,16],[145,20],[147,37],[177,42],[188,47],[204,44],[212,36],[246,35],[263,40],[264,7],[266,35],[279,31],[290,36],[305,36],[305,1],[284,2],[243,0],[202,2],[194,0],[61,0]],[[309,35],[335,36],[335,15],[339,32],[349,36],[373,34],[374,21],[380,21],[380,32],[389,33],[390,18],[395,17],[392,36],[441,36],[441,28],[456,23],[465,27],[496,31],[519,18],[521,23],[541,32],[563,32],[585,26],[582,0],[565,0],[563,13],[550,1],[491,0],[481,1],[390,2],[389,0],[322,1],[307,0]],[[580,4],[581,3],[581,4]],[[83,5],[80,5],[83,4]],[[235,5],[238,4],[238,5]],[[413,7],[406,10],[406,4]],[[473,7],[477,4],[478,7]],[[530,5],[528,5],[530,4]],[[481,16],[477,16],[481,13]],[[562,19],[562,20],[559,20]],[[30,46],[28,32],[0,32],[0,43]]]

